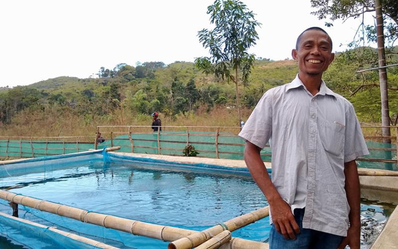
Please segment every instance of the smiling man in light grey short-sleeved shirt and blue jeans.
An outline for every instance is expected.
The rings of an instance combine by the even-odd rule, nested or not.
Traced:
[[[369,152],[352,104],[322,81],[334,59],[332,40],[308,28],[292,56],[296,78],[268,90],[239,133],[246,165],[270,205],[270,248],[359,249],[355,159]],[[269,140],[272,181],[260,157]]]

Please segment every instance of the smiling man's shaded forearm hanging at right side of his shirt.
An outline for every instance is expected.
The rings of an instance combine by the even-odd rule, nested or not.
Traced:
[[[348,205],[350,205],[350,227],[361,227],[360,198],[358,168],[355,160],[344,163],[345,191]]]

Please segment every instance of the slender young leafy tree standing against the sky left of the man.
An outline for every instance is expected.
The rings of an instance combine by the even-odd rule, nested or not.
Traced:
[[[235,83],[236,107],[239,125],[242,120],[239,105],[238,84],[246,83],[255,60],[248,49],[256,44],[256,27],[261,25],[254,19],[254,13],[238,0],[215,0],[207,7],[213,30],[198,32],[199,41],[208,48],[211,58],[195,59],[196,66],[206,74],[226,78]]]

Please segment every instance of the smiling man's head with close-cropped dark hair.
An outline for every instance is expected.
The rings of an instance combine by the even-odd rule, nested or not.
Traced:
[[[298,61],[299,74],[322,75],[334,59],[331,42],[327,34],[320,30],[304,32],[293,49],[292,56]]]

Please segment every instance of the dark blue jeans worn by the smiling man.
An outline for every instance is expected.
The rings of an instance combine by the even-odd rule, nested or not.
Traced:
[[[344,237],[302,228],[304,209],[295,209],[295,220],[300,228],[296,240],[286,240],[272,224],[270,249],[336,249]]]

